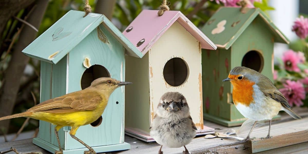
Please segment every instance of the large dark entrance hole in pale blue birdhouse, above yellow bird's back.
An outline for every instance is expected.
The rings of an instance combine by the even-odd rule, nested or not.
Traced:
[[[81,89],[91,86],[92,81],[101,77],[110,77],[107,69],[102,65],[92,65],[83,72],[81,77]]]

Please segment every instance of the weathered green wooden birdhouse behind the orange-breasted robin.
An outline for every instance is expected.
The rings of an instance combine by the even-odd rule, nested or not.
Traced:
[[[232,103],[232,86],[221,81],[236,66],[273,81],[274,43],[289,40],[259,8],[221,7],[201,31],[218,47],[202,51],[204,118],[230,127],[241,125],[246,119]]]

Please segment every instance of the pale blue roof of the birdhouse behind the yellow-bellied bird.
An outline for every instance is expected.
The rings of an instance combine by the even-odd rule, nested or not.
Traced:
[[[70,10],[22,52],[32,58],[58,63],[99,24],[125,47],[126,54],[141,58],[143,54],[103,14]],[[90,44],[89,44],[90,46]]]

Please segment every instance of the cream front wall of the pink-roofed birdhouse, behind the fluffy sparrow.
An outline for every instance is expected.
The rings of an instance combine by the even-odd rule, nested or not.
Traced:
[[[198,129],[203,129],[201,45],[199,41],[179,22],[174,22],[148,53],[151,121],[156,114],[160,97],[165,92],[178,91],[187,99],[193,122]],[[173,58],[177,59],[167,64]]]

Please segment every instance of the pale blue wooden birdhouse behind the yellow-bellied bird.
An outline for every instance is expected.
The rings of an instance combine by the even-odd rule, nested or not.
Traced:
[[[40,102],[90,86],[94,79],[125,79],[126,54],[141,57],[138,49],[102,14],[69,11],[22,52],[41,61]],[[129,149],[124,142],[124,86],[110,96],[103,115],[81,126],[76,137],[96,152]],[[33,143],[50,151],[59,150],[55,126],[40,121]],[[64,154],[83,153],[82,144],[69,135],[70,127],[59,131]]]

